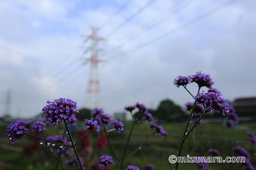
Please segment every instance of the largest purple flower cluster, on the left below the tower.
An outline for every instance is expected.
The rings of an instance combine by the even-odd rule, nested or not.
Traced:
[[[46,106],[43,107],[42,118],[44,118],[44,123],[49,127],[50,124],[54,123],[52,126],[56,126],[56,124],[60,124],[63,122],[63,118],[68,119],[74,113],[78,113],[76,110],[76,102],[70,100],[68,98],[59,98],[54,101],[47,101]],[[72,122],[74,117],[71,118]]]

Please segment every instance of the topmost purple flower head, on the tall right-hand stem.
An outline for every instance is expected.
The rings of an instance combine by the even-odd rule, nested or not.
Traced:
[[[196,75],[191,76],[191,82],[197,83],[199,87],[212,87],[214,82],[210,75],[205,75],[205,73],[197,72]]]

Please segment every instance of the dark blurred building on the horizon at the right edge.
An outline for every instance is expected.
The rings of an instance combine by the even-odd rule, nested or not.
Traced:
[[[241,116],[256,116],[256,97],[237,98],[230,104]]]

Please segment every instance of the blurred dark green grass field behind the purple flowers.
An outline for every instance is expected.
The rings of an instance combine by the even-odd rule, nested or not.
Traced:
[[[129,128],[132,122],[126,122],[126,131],[124,134],[118,134],[115,131],[110,132],[109,137],[112,142],[113,149],[116,155],[121,158],[126,144],[126,139],[129,134]],[[173,169],[174,165],[169,163],[169,155],[178,155],[180,140],[185,123],[168,123],[162,124],[165,131],[169,135],[162,138],[159,135],[152,135],[149,124],[136,124],[132,134],[129,150],[125,165],[135,165],[143,169],[143,165],[152,163],[155,169]],[[30,151],[24,153],[24,148],[29,148],[34,140],[28,137],[23,137],[16,141],[15,147],[12,149],[10,140],[5,137],[5,131],[8,124],[2,123],[0,125],[0,169],[55,169],[58,158],[52,155],[48,147],[39,145],[37,151]],[[61,127],[51,127],[46,133],[56,135],[62,132]],[[256,165],[256,146],[252,146],[247,131],[256,134],[255,122],[239,123],[233,129],[227,129],[222,123],[202,123],[194,129],[193,133],[185,141],[182,155],[189,154],[190,156],[208,156],[207,150],[209,148],[218,149],[221,152],[221,157],[235,156],[232,147],[241,146],[246,148],[251,153],[251,163]],[[91,158],[87,158],[87,152],[82,152],[84,160],[90,163],[97,161],[99,155],[111,155],[109,148],[104,151],[95,151],[93,147],[94,140],[98,134],[91,133],[89,140],[91,141]],[[38,141],[37,141],[38,142]],[[39,142],[38,142],[39,143]],[[90,161],[90,162],[89,162]],[[111,169],[119,169],[118,161]],[[209,163],[209,168],[214,169],[243,169],[241,163]],[[256,167],[256,166],[255,166]],[[74,167],[61,167],[59,169],[76,169]],[[90,168],[87,168],[90,169]],[[192,163],[180,163],[179,169],[196,169]]]

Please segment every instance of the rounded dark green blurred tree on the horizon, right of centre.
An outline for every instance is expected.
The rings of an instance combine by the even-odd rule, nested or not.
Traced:
[[[152,113],[160,121],[183,121],[185,112],[174,101],[165,99],[160,101],[157,110]]]

